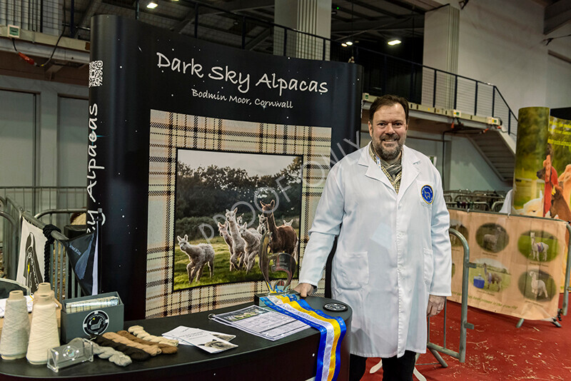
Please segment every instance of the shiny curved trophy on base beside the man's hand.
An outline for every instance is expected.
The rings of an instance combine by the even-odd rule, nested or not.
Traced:
[[[260,298],[268,295],[299,295],[297,291],[289,290],[291,279],[295,274],[297,263],[293,255],[288,253],[271,253],[268,255],[268,249],[271,247],[272,233],[266,232],[262,235],[261,248],[260,248],[260,270],[266,286],[268,287],[267,293],[256,294],[254,302],[256,305],[263,305]],[[285,280],[270,280],[270,273],[284,272],[287,275]]]

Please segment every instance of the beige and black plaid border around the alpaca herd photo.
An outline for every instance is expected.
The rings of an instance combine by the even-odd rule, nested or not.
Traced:
[[[229,121],[151,110],[148,176],[146,317],[163,317],[253,301],[263,281],[173,291],[177,148],[303,156],[300,260],[328,174],[331,130]],[[323,295],[323,280],[318,295]]]

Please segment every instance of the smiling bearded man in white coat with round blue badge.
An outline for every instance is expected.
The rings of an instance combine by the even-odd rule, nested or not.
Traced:
[[[338,236],[331,290],[353,308],[350,380],[381,357],[383,381],[409,381],[426,351],[426,317],[450,295],[450,218],[440,174],[404,146],[408,101],[377,98],[368,126],[371,143],[331,168],[295,290],[313,292]]]

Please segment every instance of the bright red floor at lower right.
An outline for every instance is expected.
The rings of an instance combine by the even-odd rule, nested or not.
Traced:
[[[561,303],[560,303],[561,305]],[[468,308],[466,360],[443,355],[448,367],[436,363],[430,352],[421,355],[417,370],[426,380],[571,380],[571,309],[562,317],[562,327],[551,322],[519,319]],[[430,322],[430,341],[442,345],[443,317]],[[448,303],[447,347],[458,350],[460,343],[460,304]],[[370,373],[378,359],[370,358],[363,381],[380,381],[383,371]],[[433,363],[433,364],[430,364]],[[415,378],[416,380],[416,378]]]

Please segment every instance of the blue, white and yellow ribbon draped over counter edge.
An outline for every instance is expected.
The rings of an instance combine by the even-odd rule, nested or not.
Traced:
[[[305,322],[320,332],[315,381],[337,380],[341,361],[341,341],[347,328],[341,317],[331,317],[321,310],[315,310],[305,300],[294,295],[269,295],[261,298],[273,310]]]

